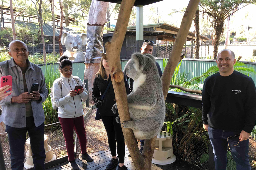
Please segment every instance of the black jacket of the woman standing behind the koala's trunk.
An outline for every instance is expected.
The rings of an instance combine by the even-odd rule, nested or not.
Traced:
[[[95,106],[99,109],[99,113],[102,116],[115,116],[111,109],[113,105],[116,103],[114,101],[115,99],[115,92],[113,88],[113,84],[111,82],[104,98],[101,100],[101,95],[105,92],[108,83],[111,81],[111,77],[109,75],[108,80],[104,80],[99,75],[98,77],[95,76],[94,82],[93,82],[93,89],[92,89],[92,99],[95,103]],[[129,84],[128,80],[124,74],[124,84],[126,88],[126,93],[129,94]]]

